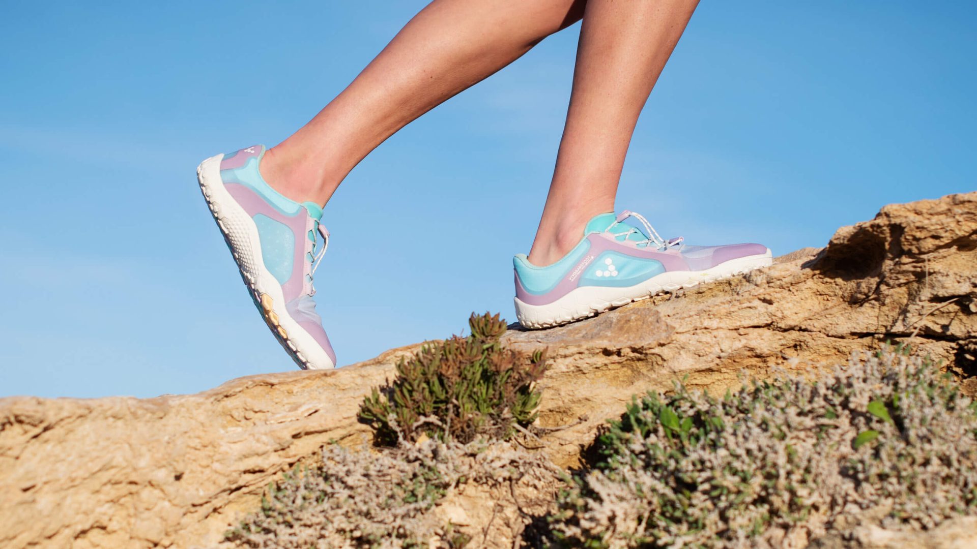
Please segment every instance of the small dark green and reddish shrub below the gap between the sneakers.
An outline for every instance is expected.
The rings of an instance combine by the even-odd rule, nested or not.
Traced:
[[[507,439],[517,424],[536,418],[545,370],[543,353],[503,349],[505,320],[472,314],[471,335],[430,343],[397,364],[393,383],[363,401],[360,420],[376,431],[377,443],[422,434],[468,443],[477,437]]]

